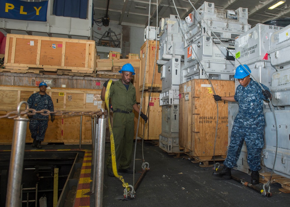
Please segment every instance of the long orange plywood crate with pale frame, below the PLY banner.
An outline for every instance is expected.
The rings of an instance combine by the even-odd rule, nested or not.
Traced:
[[[96,46],[93,40],[7,34],[4,66],[8,69],[43,68],[94,73]]]

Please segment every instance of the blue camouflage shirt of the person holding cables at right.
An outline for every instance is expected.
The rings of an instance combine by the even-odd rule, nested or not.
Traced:
[[[269,90],[267,86],[263,84],[261,86],[264,90]],[[256,81],[251,79],[246,87],[239,85],[234,98],[239,102],[239,112],[235,118],[235,124],[253,127],[265,125],[263,100],[267,99]]]

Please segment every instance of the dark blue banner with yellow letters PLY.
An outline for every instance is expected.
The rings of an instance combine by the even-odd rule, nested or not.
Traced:
[[[48,1],[0,0],[0,18],[46,21]]]

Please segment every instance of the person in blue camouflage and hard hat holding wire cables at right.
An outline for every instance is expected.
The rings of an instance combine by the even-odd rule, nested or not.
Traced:
[[[247,69],[245,70],[244,67]],[[220,97],[213,95],[215,101],[238,101],[239,112],[233,122],[231,142],[223,168],[214,171],[213,175],[231,179],[233,168],[240,156],[244,141],[247,145],[248,164],[251,170],[251,183],[259,184],[259,170],[261,170],[261,150],[264,147],[265,118],[263,112],[263,100],[272,98],[269,88],[263,84],[259,86],[250,78],[251,70],[247,65],[238,66],[235,78],[240,85],[234,96]]]

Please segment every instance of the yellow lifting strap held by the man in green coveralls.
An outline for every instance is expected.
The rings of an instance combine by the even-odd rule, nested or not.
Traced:
[[[110,88],[112,85],[112,80],[110,79],[106,88],[106,93],[105,93],[105,103],[107,106],[107,109],[109,110],[109,99],[110,99]],[[115,142],[114,142],[114,136],[113,136],[113,131],[112,131],[112,126],[110,123],[110,116],[108,116],[108,120],[109,120],[109,131],[110,131],[110,142],[111,142],[111,156],[112,156],[112,168],[113,168],[113,173],[115,175],[115,177],[119,178],[122,183],[123,183],[123,187],[125,187],[128,191],[130,191],[130,187],[128,183],[125,183],[124,178],[122,175],[118,175],[117,172],[117,162],[116,162],[116,152],[115,152]]]

